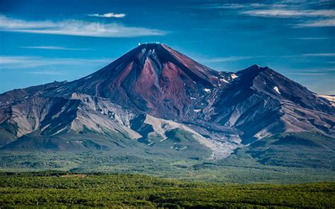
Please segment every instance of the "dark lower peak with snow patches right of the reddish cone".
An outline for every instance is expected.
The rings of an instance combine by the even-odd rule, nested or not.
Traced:
[[[334,108],[307,88],[257,65],[236,75],[219,92],[211,121],[243,131],[248,141],[283,132],[334,136]]]

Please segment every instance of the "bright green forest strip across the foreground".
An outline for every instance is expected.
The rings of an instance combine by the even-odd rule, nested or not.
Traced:
[[[334,205],[334,182],[219,184],[141,174],[0,173],[0,208],[331,208]]]

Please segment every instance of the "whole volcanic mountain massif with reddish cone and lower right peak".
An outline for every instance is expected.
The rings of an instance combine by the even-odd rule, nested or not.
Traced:
[[[335,156],[333,101],[269,67],[215,71],[165,44],[141,44],[81,79],[1,94],[0,150],[213,160],[248,148],[262,162],[312,152],[324,163]]]

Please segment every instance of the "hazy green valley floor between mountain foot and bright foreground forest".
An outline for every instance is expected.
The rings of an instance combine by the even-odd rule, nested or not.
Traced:
[[[307,165],[307,163],[306,163]],[[233,184],[300,184],[335,181],[335,170],[322,167],[264,165],[247,153],[224,160],[186,159],[127,153],[0,152],[0,172],[58,170],[74,173],[145,174],[183,181]]]

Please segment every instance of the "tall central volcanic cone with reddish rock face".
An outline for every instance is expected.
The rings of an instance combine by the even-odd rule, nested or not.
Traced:
[[[141,44],[66,88],[109,97],[123,107],[155,117],[180,119],[189,117],[189,107],[211,89],[224,87],[219,76],[164,44]]]

